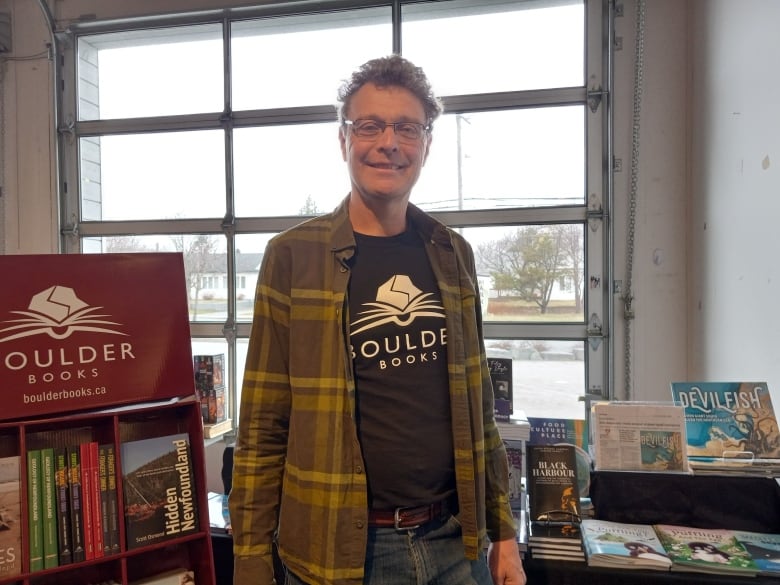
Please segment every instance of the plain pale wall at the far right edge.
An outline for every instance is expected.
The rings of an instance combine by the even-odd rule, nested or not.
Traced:
[[[780,3],[697,0],[691,19],[691,377],[780,396]]]

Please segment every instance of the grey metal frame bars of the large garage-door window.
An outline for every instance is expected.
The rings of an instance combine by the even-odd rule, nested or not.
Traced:
[[[476,0],[478,2],[478,0]],[[556,0],[525,0],[529,4],[554,4]],[[585,74],[587,85],[549,88],[493,94],[441,96],[448,114],[472,113],[501,109],[538,108],[553,105],[585,106],[586,194],[583,205],[513,208],[511,210],[459,210],[432,212],[445,224],[457,227],[488,227],[577,223],[585,226],[585,319],[577,323],[484,323],[486,339],[574,340],[585,342],[586,388],[584,415],[593,398],[611,398],[614,394],[613,348],[610,327],[614,311],[612,291],[613,234],[609,218],[613,207],[612,190],[612,6],[607,0],[583,0],[585,7]],[[233,174],[230,157],[230,133],[233,129],[285,123],[332,122],[332,105],[273,108],[230,112],[230,25],[247,18],[262,18],[294,14],[311,14],[356,8],[390,6],[392,8],[393,47],[402,52],[401,11],[403,0],[321,1],[315,3],[279,2],[252,8],[230,8],[146,17],[134,20],[72,23],[67,31],[58,33],[62,47],[61,91],[57,95],[59,165],[58,198],[60,203],[61,249],[64,253],[80,253],[83,238],[150,234],[206,234],[221,236],[227,242],[228,301],[224,322],[192,322],[192,337],[219,340],[227,344],[227,379],[229,413],[237,422],[236,396],[243,372],[236,360],[237,343],[249,337],[251,323],[236,319],[236,237],[243,234],[276,233],[292,227],[307,216],[242,217],[236,221],[233,198]],[[223,66],[225,71],[224,104],[219,112],[188,115],[129,118],[116,120],[78,120],[78,38],[83,35],[119,32],[133,28],[157,28],[193,24],[221,24]],[[228,113],[229,112],[229,113]],[[223,217],[178,220],[82,221],[80,211],[80,169],[78,145],[81,138],[103,134],[138,132],[168,132],[176,130],[220,129],[226,136],[226,213]],[[335,139],[334,139],[335,140]],[[334,148],[336,145],[334,144]]]

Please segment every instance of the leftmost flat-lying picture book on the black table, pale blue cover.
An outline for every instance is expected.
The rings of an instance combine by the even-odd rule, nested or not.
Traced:
[[[668,571],[672,566],[652,526],[585,518],[580,528],[592,567]]]

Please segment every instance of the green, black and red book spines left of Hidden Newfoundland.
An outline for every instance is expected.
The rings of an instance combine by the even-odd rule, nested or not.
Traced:
[[[119,552],[114,445],[27,451],[30,571]]]

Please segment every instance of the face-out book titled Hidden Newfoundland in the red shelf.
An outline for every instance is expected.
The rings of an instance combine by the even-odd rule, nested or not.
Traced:
[[[186,433],[122,443],[127,548],[198,530],[197,491]]]

